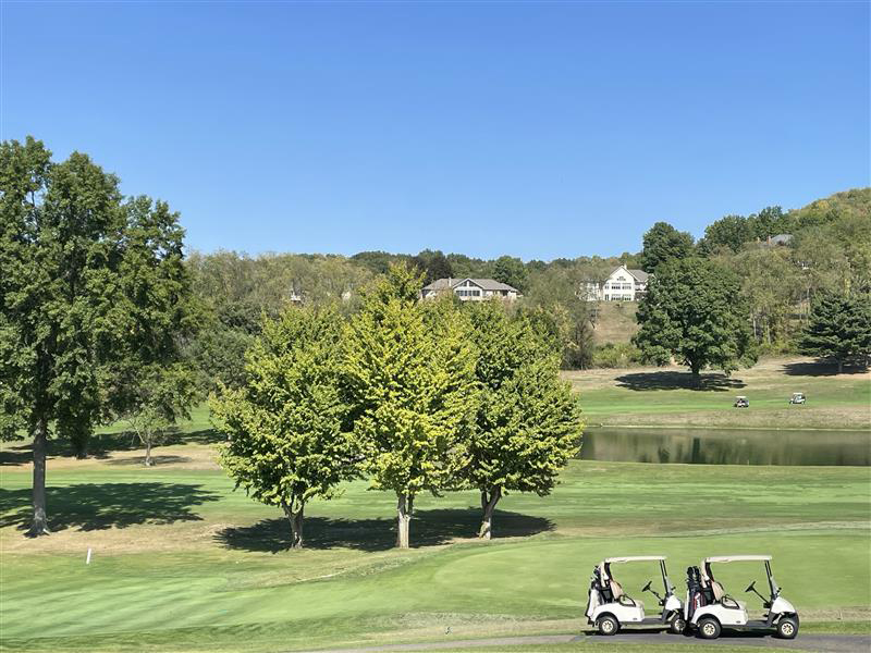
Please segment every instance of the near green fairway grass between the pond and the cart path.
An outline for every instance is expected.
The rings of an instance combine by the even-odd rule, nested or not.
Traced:
[[[4,650],[254,652],[579,632],[593,564],[621,554],[667,554],[683,589],[704,555],[771,553],[805,623],[871,614],[867,468],[575,461],[551,497],[505,498],[491,543],[468,540],[475,494],[420,497],[407,552],[392,550],[393,498],[355,483],[311,506],[310,549],[290,552],[280,513],[232,491],[198,418],[191,436],[157,449],[152,469],[140,452],[113,448],[116,436],[98,458],[52,458],[56,532],[36,541],[20,530],[24,449],[5,446]],[[740,594],[760,571],[724,567],[721,578]],[[621,572],[639,599],[657,578]]]

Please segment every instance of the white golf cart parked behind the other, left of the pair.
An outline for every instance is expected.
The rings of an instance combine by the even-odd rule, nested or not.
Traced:
[[[662,587],[665,594],[660,595],[650,588],[653,581],[641,589],[642,592],[653,594],[662,613],[655,617],[645,614],[645,604],[629,597],[621,584],[614,579],[611,571],[612,565],[624,563],[659,563],[662,576]],[[614,634],[625,626],[641,626],[645,628],[667,628],[672,632],[683,632],[686,626],[680,600],[674,593],[674,587],[668,582],[665,570],[665,557],[661,555],[639,555],[631,557],[605,558],[593,567],[590,579],[590,591],[587,599],[587,623],[596,626],[600,634]]]

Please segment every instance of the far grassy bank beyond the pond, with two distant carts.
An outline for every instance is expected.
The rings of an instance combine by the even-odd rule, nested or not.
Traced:
[[[809,358],[763,359],[731,377],[702,374],[691,386],[686,368],[631,368],[565,372],[580,393],[588,424],[672,426],[758,429],[871,430],[871,372]],[[808,402],[790,406],[789,396],[803,392]],[[750,408],[737,409],[737,395]]]

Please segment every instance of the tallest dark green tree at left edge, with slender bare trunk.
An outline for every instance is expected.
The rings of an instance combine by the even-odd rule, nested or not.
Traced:
[[[137,279],[154,261],[165,261],[163,279],[183,275],[183,232],[164,205],[142,208],[86,155],[52,163],[33,138],[0,145],[0,435],[33,438],[30,535],[49,532],[49,438],[84,438],[108,419],[124,356],[148,361],[177,326],[163,316],[175,283]],[[139,237],[144,223],[157,237]]]

